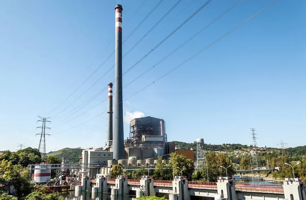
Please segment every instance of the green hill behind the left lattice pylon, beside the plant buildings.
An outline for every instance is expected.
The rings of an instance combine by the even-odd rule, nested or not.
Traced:
[[[69,163],[79,163],[79,157],[82,156],[82,148],[63,148],[56,152],[49,152],[47,156],[65,157]]]

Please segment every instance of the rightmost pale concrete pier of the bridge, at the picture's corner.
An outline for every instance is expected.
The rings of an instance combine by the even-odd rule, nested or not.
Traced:
[[[305,184],[300,179],[288,179],[284,181],[285,199],[306,199]]]

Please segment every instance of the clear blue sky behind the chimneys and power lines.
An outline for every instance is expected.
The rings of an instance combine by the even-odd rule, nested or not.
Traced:
[[[177,1],[164,0],[124,42],[123,54]],[[158,2],[1,1],[0,151],[15,151],[17,143],[38,147],[39,136],[35,134],[41,130],[35,128],[41,123],[36,122],[37,115],[52,117],[52,123],[47,123],[53,127],[47,132],[51,134],[46,137],[47,152],[63,147],[104,146],[107,101],[99,103],[107,98],[106,92],[67,117],[108,82],[113,82],[114,69],[88,90],[114,65],[114,56],[62,102],[114,51],[115,5],[123,6],[124,40]],[[126,73],[123,85],[155,65],[235,2],[213,0]],[[123,98],[152,83],[270,2],[242,1],[179,51],[124,88]],[[123,71],[204,3],[182,0],[126,55]],[[169,141],[193,142],[204,138],[211,144],[249,145],[252,142],[249,129],[256,128],[259,146],[276,147],[281,139],[288,143],[287,147],[305,145],[305,20],[306,1],[277,1],[199,56],[127,99],[124,137],[129,136],[128,122],[133,117],[152,116],[165,120]],[[104,113],[91,119],[101,112]],[[70,121],[57,126],[63,120]]]

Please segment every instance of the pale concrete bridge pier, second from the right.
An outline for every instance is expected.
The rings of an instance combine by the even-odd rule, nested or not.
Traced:
[[[237,200],[235,182],[227,177],[218,178],[217,191],[228,200]]]

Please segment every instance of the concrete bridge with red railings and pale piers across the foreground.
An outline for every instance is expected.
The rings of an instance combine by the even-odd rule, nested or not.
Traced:
[[[140,196],[164,196],[171,200],[201,199],[306,199],[305,185],[298,179],[287,180],[284,185],[236,183],[226,177],[217,182],[188,181],[175,177],[173,181],[153,180],[143,176],[141,180],[127,180],[122,176],[107,179],[97,176],[96,180],[83,178],[81,185],[75,186],[75,195],[91,190],[93,196],[98,192],[111,192],[112,196],[132,194]]]

